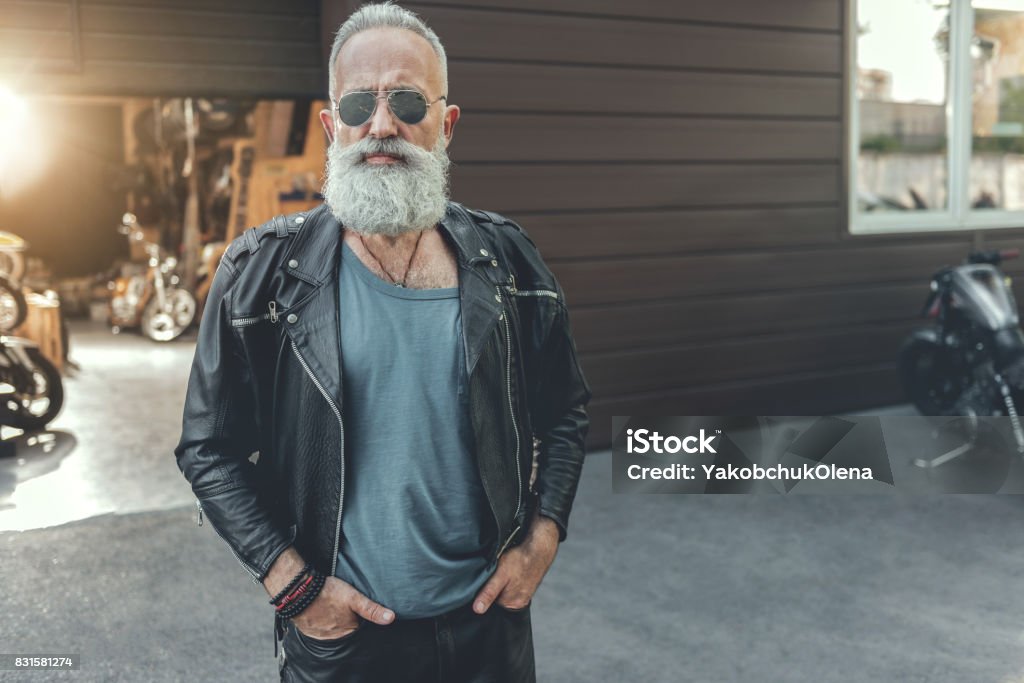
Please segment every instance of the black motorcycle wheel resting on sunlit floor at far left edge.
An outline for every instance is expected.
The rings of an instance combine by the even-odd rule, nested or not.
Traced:
[[[63,382],[60,373],[38,348],[28,348],[32,361],[17,378],[13,391],[0,402],[0,423],[27,432],[46,429],[63,407]]]

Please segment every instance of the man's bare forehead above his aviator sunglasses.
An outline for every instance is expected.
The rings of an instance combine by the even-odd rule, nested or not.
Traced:
[[[430,43],[404,29],[370,29],[345,42],[336,65],[339,89],[415,88],[439,85],[440,62]]]

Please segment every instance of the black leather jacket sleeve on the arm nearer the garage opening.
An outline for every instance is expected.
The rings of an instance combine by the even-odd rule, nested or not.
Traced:
[[[275,524],[261,504],[255,465],[249,460],[256,451],[258,424],[249,369],[231,328],[231,290],[238,274],[225,254],[200,324],[174,455],[201,514],[259,582],[294,533]]]

